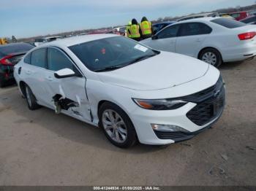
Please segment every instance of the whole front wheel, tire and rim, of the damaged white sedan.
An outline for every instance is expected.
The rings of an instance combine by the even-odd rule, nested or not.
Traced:
[[[117,147],[132,147],[137,135],[128,115],[115,104],[105,102],[99,108],[99,127],[104,130],[108,140]]]

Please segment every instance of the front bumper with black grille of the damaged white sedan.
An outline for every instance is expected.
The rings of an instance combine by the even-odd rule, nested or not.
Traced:
[[[218,81],[219,82],[219,81]],[[137,109],[132,115],[138,139],[143,144],[171,144],[191,139],[219,120],[225,107],[225,85],[218,82],[199,93],[185,96],[188,104],[179,109],[168,111],[151,111]],[[151,124],[176,125],[187,130],[160,131],[153,130]]]

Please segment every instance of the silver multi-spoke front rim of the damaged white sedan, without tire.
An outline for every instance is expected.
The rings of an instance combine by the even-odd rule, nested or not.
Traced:
[[[127,127],[117,112],[112,109],[105,110],[102,114],[102,124],[113,141],[123,143],[127,140]]]

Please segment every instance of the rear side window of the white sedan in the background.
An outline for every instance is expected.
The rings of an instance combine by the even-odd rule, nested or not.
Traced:
[[[212,29],[204,23],[184,23],[179,36],[210,34]]]

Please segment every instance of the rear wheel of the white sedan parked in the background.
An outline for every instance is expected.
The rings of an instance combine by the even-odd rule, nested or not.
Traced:
[[[214,61],[214,59],[208,60],[207,58],[215,58],[216,61]],[[221,64],[222,64],[222,55],[220,54],[220,52],[214,48],[206,48],[205,50],[203,50],[202,52],[200,52],[199,55],[199,59],[201,61],[205,61],[206,63],[211,64],[212,66],[215,66],[216,68],[218,68]],[[207,61],[208,60],[208,61]]]

